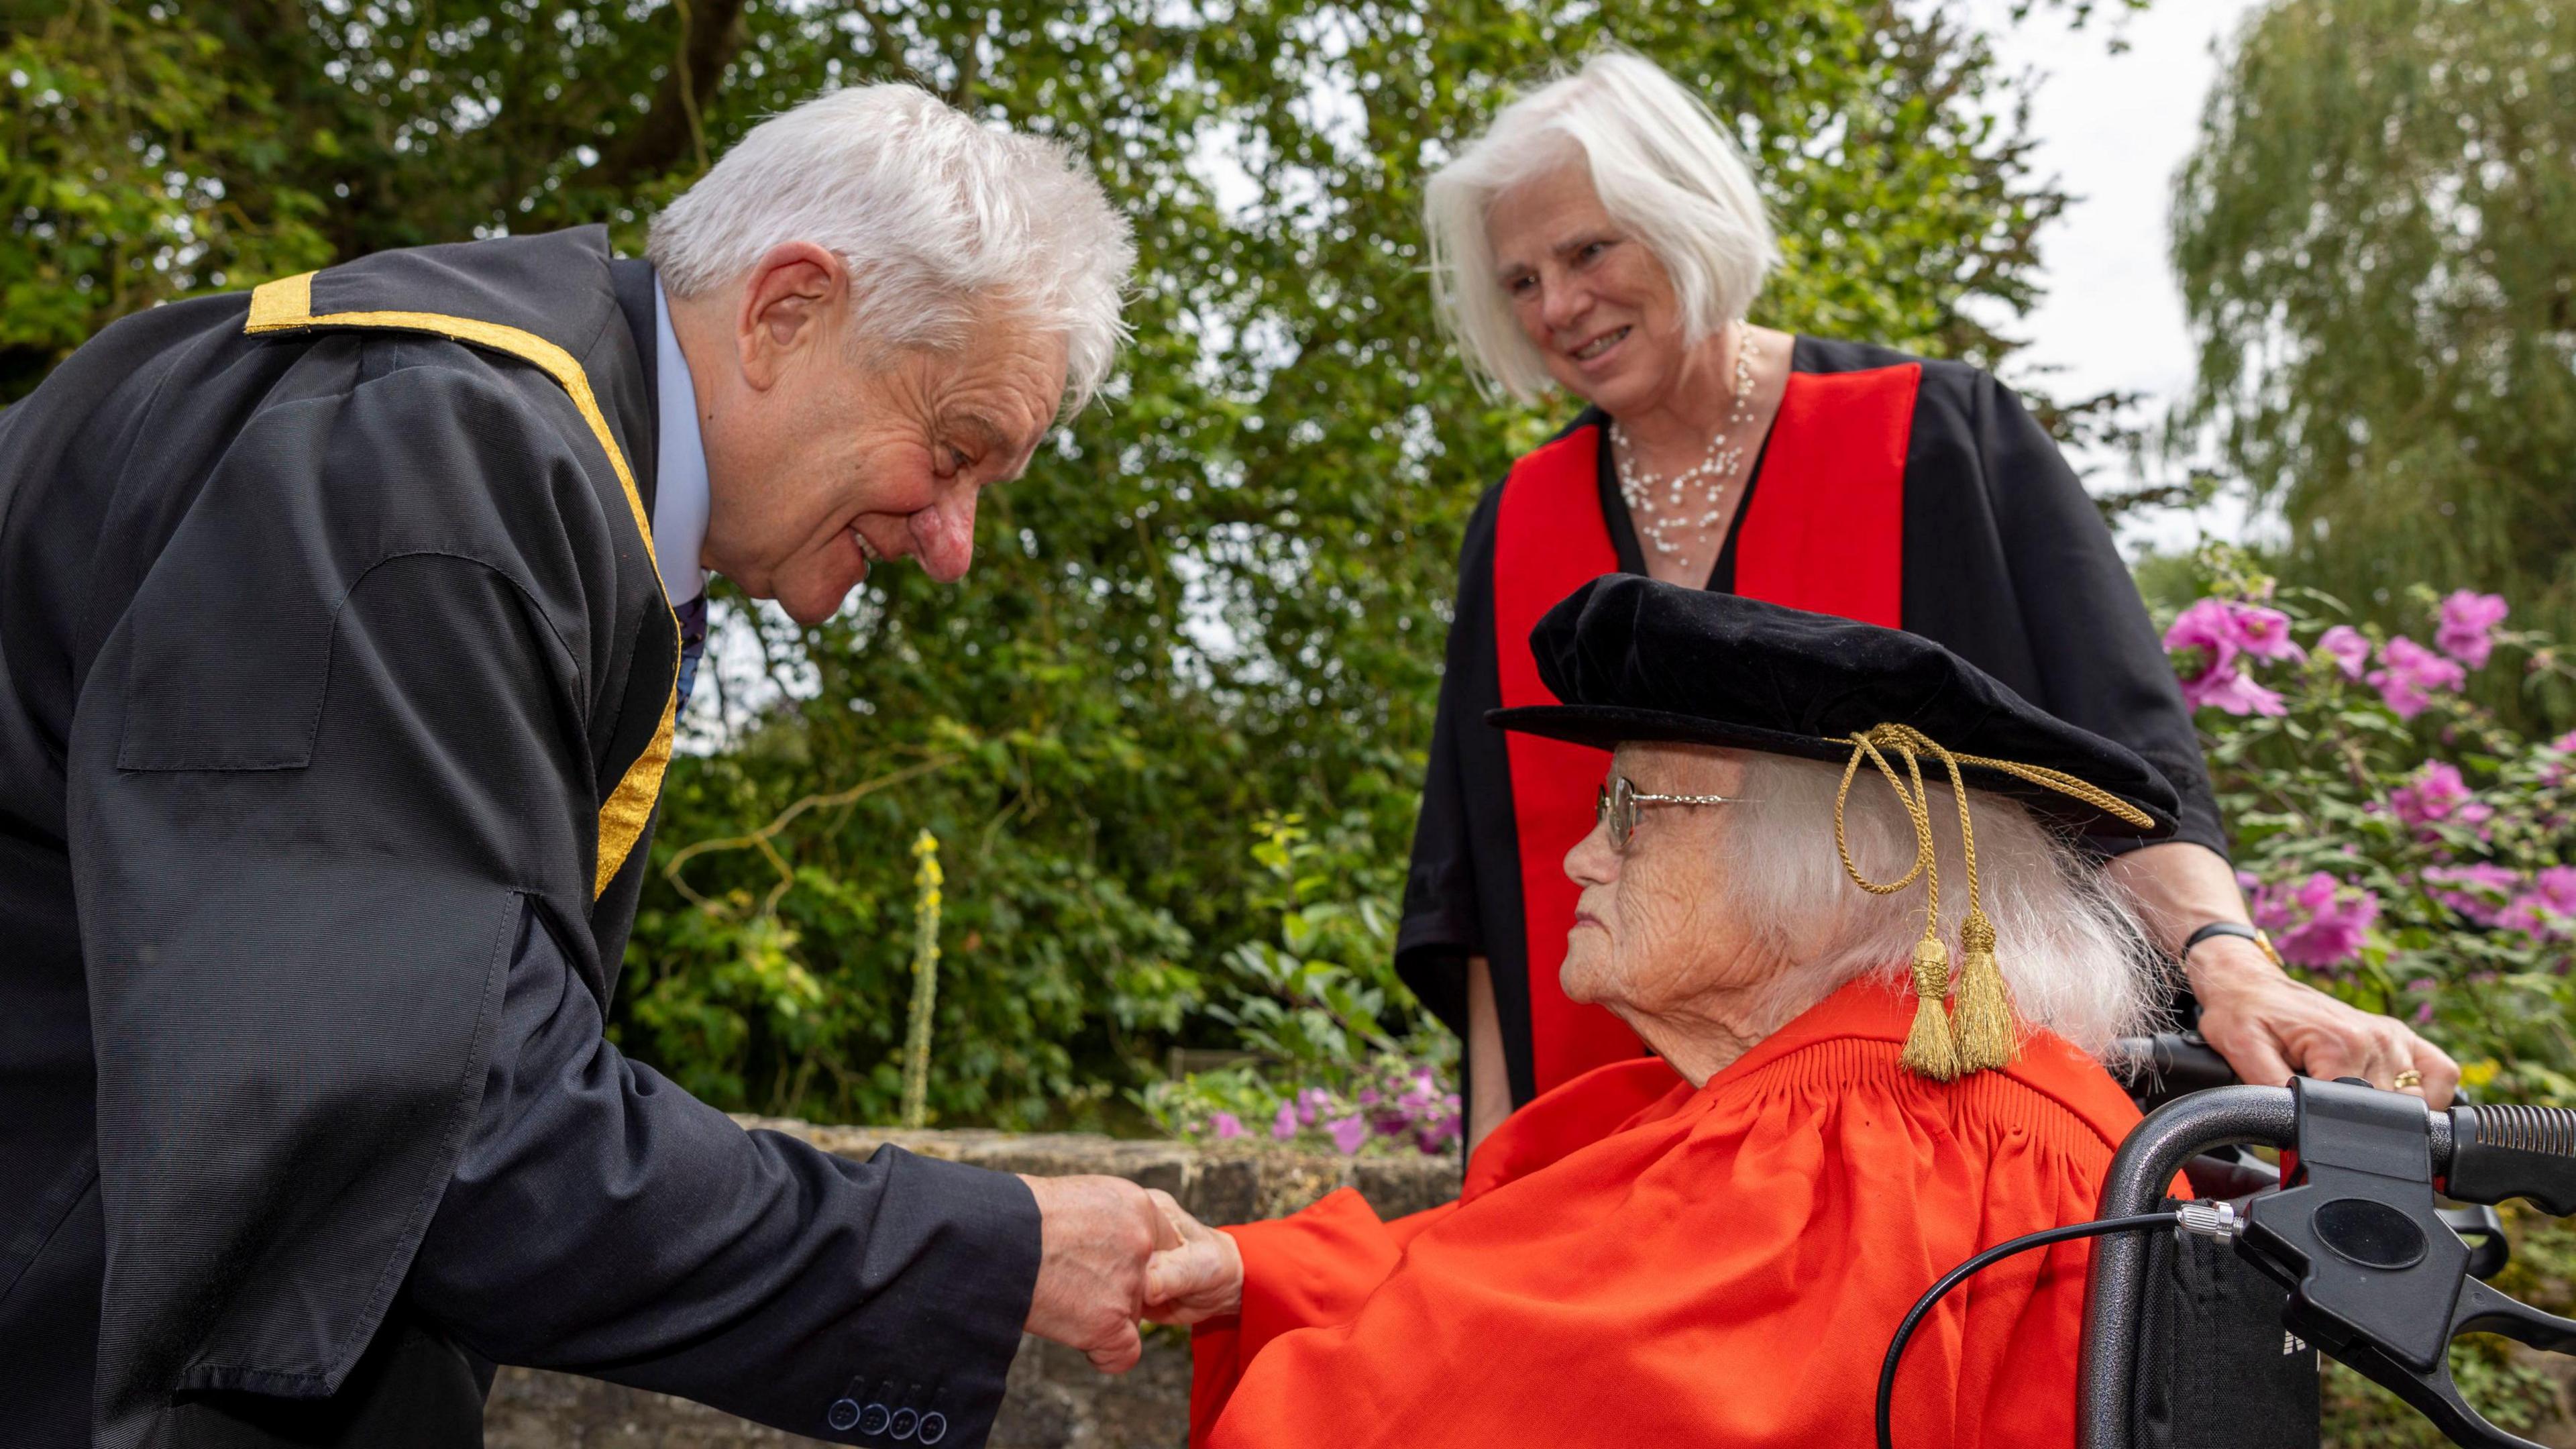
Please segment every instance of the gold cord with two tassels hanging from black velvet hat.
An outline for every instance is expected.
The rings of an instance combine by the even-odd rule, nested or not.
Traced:
[[[1914,941],[1914,1029],[1906,1034],[1901,1060],[1917,1075],[1940,1083],[2002,1067],[2012,1062],[2017,1036],[2012,993],[2004,987],[2004,969],[1994,959],[1994,920],[1986,918],[1986,908],[1978,900],[1976,828],[1968,820],[1968,784],[1958,768],[1978,766],[2009,773],[2081,799],[2141,830],[2151,830],[2156,822],[2136,804],[2066,771],[1991,761],[1986,755],[1953,755],[1911,724],[1878,724],[1850,735],[1850,740],[1852,758],[1844,761],[1842,789],[1834,792],[1834,851],[1842,853],[1842,871],[1870,895],[1896,895],[1914,884],[1914,877],[1924,879],[1924,933]],[[1883,750],[1893,750],[1906,761],[1904,776],[1896,773]],[[1958,926],[1958,1008],[1947,1016],[1942,1013],[1942,998],[1950,993],[1950,951],[1940,938],[1940,866],[1932,848],[1932,797],[1924,792],[1919,755],[1932,755],[1950,773],[1950,794],[1958,799],[1958,843],[1968,866],[1968,918]],[[1860,773],[1860,761],[1878,766],[1880,779],[1896,792],[1906,820],[1914,825],[1914,866],[1891,882],[1873,882],[1860,874],[1860,866],[1852,861],[1850,838],[1844,835],[1842,810],[1852,797],[1852,779]]]

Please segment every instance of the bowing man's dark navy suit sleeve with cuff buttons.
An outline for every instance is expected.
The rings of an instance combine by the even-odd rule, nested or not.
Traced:
[[[523,913],[479,1122],[410,1281],[469,1348],[842,1441],[868,1405],[912,1410],[920,1439],[971,1449],[1036,1274],[1025,1183],[739,1129],[611,1047]]]

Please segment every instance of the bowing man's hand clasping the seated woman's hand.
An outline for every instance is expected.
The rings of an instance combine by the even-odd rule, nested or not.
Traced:
[[[1028,1330],[1092,1356],[1123,1374],[1144,1356],[1136,1318],[1144,1312],[1144,1263],[1180,1232],[1146,1191],[1126,1178],[1030,1178],[1038,1199],[1038,1292]],[[1170,1201],[1170,1199],[1164,1199]]]

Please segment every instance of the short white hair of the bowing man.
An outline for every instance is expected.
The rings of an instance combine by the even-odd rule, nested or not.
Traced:
[[[961,345],[1018,325],[1064,338],[1066,410],[1108,376],[1136,242],[1072,147],[981,126],[917,85],[858,85],[770,116],[652,222],[654,268],[698,297],[770,248],[850,268],[858,338]]]

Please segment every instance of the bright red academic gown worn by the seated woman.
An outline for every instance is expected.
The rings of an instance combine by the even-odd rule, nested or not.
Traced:
[[[1229,1227],[1244,1305],[1195,1336],[1190,1444],[1870,1444],[1888,1336],[1935,1276],[2094,1212],[2138,1122],[2038,1034],[1940,1085],[1914,1000],[1855,982],[1698,1091],[1615,1062],[1504,1122],[1455,1204],[1355,1191]],[[2074,1444],[2089,1243],[1950,1294],[1896,1382],[1901,1449]]]

